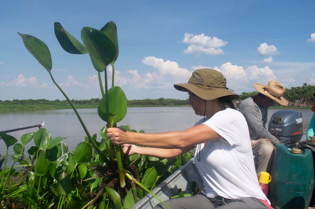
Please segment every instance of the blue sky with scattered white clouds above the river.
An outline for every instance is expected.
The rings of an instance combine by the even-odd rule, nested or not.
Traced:
[[[185,99],[173,84],[203,67],[221,71],[236,93],[269,80],[315,85],[314,8],[314,1],[1,1],[0,100],[64,99],[17,32],[47,44],[52,74],[71,99],[101,96],[89,55],[64,51],[54,22],[80,41],[83,27],[116,23],[115,84],[128,99]]]

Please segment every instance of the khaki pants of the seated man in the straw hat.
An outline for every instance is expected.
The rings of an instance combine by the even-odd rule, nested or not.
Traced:
[[[251,140],[253,154],[258,157],[258,169],[256,174],[259,177],[260,172],[267,170],[267,166],[272,156],[274,146],[270,139]]]

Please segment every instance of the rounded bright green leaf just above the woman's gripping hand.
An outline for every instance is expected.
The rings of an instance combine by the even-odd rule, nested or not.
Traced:
[[[109,121],[106,115],[106,95],[100,100],[97,112],[103,121],[111,124],[117,123],[125,117],[127,113],[127,98],[123,89],[119,86],[114,86],[108,90],[108,105],[109,105]]]

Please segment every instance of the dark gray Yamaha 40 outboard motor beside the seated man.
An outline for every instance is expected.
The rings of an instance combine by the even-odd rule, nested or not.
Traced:
[[[268,131],[281,137],[283,143],[295,144],[303,137],[303,118],[300,111],[279,110],[270,118]]]

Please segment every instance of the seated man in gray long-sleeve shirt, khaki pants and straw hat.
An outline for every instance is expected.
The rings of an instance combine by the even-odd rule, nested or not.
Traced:
[[[279,141],[266,129],[268,107],[274,103],[288,106],[288,101],[282,97],[285,88],[281,83],[269,81],[268,85],[254,84],[259,92],[253,97],[244,99],[238,108],[248,124],[253,154],[258,156],[257,175],[266,171],[267,165],[274,149]]]

